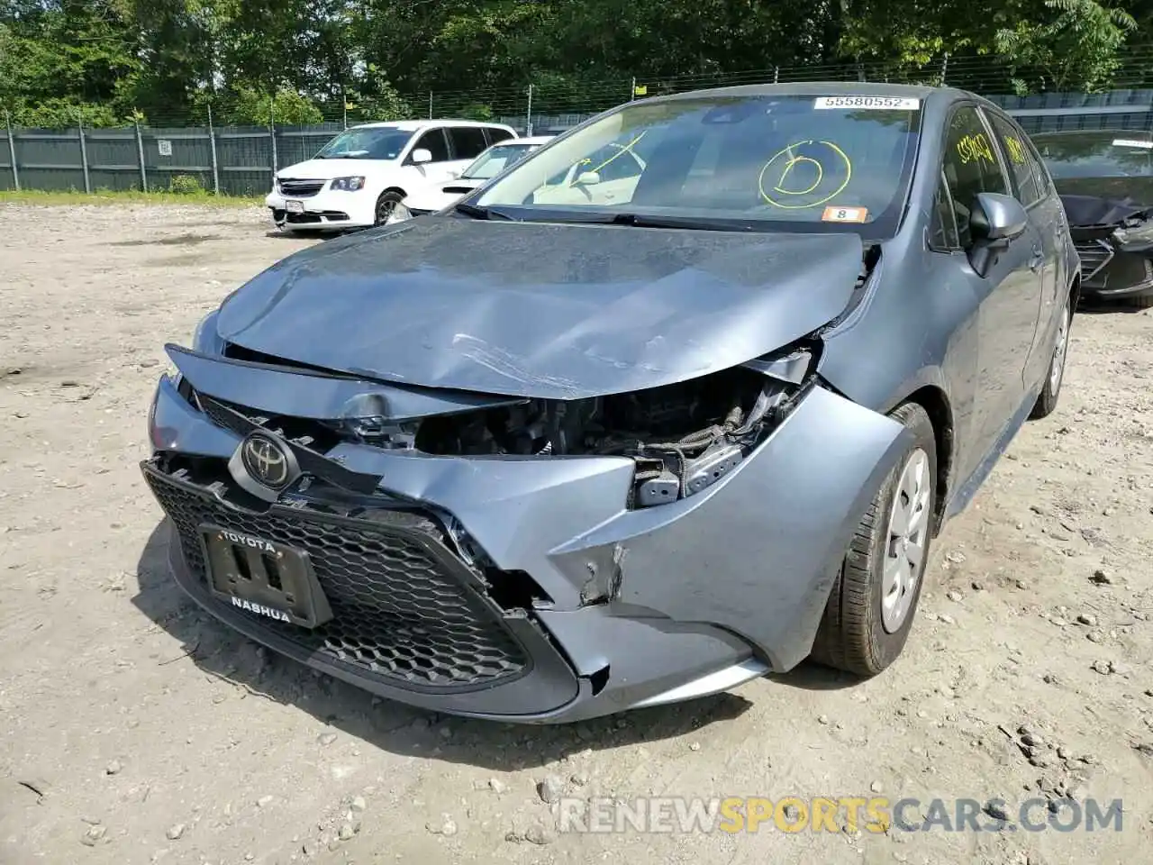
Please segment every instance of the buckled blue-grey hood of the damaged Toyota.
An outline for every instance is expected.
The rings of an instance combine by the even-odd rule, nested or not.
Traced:
[[[219,334],[390,382],[578,399],[744,363],[835,318],[856,234],[429,217],[329,241],[225,301]]]

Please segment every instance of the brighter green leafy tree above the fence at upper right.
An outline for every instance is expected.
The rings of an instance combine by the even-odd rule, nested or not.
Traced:
[[[1050,10],[1045,21],[997,31],[997,51],[1018,70],[1034,73],[1015,77],[1013,89],[1093,92],[1108,86],[1121,65],[1118,51],[1137,30],[1133,16],[1095,0],[1046,0],[1045,6]]]

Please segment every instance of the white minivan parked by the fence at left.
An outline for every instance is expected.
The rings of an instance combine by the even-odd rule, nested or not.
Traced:
[[[382,225],[410,189],[457,176],[512,127],[472,120],[401,120],[342,131],[315,157],[277,172],[264,200],[281,230]]]

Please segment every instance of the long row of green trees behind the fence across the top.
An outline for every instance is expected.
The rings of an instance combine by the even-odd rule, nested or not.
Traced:
[[[529,83],[535,110],[583,112],[632,76],[650,95],[837,63],[932,83],[945,54],[962,86],[967,68],[986,91],[1094,90],[1138,38],[1153,0],[0,0],[0,110],[184,126],[211,105],[263,127],[424,116],[432,91],[437,114],[488,118]],[[994,54],[1010,67],[974,62]]]

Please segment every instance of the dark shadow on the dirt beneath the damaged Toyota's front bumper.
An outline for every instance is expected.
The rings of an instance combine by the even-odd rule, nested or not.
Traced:
[[[160,664],[195,663],[239,698],[291,705],[330,727],[391,753],[469,764],[497,772],[528,769],[586,749],[594,751],[685,736],[731,721],[752,704],[734,694],[570,724],[477,721],[410,708],[270,652],[205,612],[168,576],[168,528],[152,531],[136,566],[133,603],[179,640]],[[324,734],[322,734],[323,736]]]

